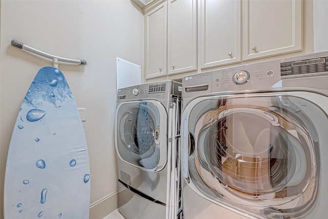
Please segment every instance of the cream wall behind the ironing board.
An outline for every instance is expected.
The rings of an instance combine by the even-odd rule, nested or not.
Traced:
[[[90,218],[103,218],[117,207],[116,56],[143,66],[144,16],[130,0],[2,0],[0,9],[0,218],[6,157],[17,110],[37,71],[52,65],[50,59],[10,46],[11,39],[57,56],[87,61],[86,66],[59,63],[59,69],[77,106],[86,108]]]

